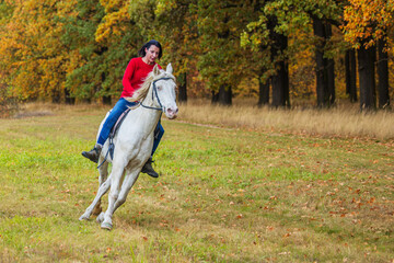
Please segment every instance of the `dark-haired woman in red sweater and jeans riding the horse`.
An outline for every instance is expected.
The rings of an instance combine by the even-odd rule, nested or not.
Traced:
[[[154,65],[157,65],[155,59],[160,59],[162,57],[163,49],[161,44],[157,41],[150,41],[146,43],[141,49],[138,52],[140,57],[132,58],[125,71],[123,78],[123,92],[120,95],[119,101],[115,104],[114,108],[111,111],[108,117],[106,118],[100,135],[97,142],[95,144],[94,148],[90,151],[83,151],[82,156],[90,159],[93,162],[99,161],[100,153],[102,151],[103,145],[108,138],[111,129],[117,122],[118,117],[125,112],[129,106],[134,106],[137,102],[129,102],[125,98],[132,96],[134,92],[140,88],[143,83],[144,79],[153,70]],[[160,65],[158,65],[161,69]],[[158,124],[157,129],[154,130],[154,142],[152,155],[143,165],[141,172],[148,173],[152,178],[158,178],[159,174],[152,168],[152,156],[158,148],[161,137],[164,134],[164,129],[160,124]]]

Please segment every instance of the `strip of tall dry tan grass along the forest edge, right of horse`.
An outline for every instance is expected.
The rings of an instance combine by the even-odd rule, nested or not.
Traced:
[[[235,101],[231,107],[195,100],[179,106],[179,119],[234,128],[277,130],[334,137],[394,138],[394,113],[361,113],[358,105],[331,110],[257,107],[253,101]]]

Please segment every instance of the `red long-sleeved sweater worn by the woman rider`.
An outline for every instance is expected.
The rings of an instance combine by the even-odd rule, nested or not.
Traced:
[[[143,83],[148,75],[153,70],[153,65],[146,64],[141,57],[132,58],[127,65],[124,78],[123,85],[124,90],[120,98],[132,96],[134,92],[138,90]],[[158,65],[161,69],[160,65]]]

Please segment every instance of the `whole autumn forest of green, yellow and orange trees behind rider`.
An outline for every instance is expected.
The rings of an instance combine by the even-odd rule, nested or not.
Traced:
[[[112,104],[154,38],[179,102],[387,110],[393,13],[393,0],[0,0],[0,107]]]

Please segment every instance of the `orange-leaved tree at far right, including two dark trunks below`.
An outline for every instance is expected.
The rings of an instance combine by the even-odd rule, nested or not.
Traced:
[[[358,71],[360,87],[360,107],[374,108],[376,105],[375,67],[376,46],[379,48],[379,106],[387,107],[389,71],[386,70],[385,39],[387,30],[393,26],[393,1],[350,0],[345,8],[346,24],[343,30],[345,39],[358,53]],[[379,44],[379,45],[378,45]]]

